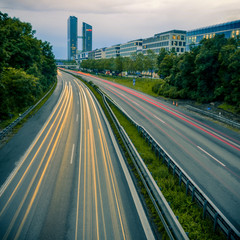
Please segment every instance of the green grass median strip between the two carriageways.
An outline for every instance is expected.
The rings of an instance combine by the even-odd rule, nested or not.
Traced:
[[[122,149],[124,150],[129,166],[133,171],[136,179],[138,180],[138,187],[142,195],[144,196],[146,205],[148,206],[149,215],[151,216],[152,221],[154,221],[155,226],[157,226],[159,235],[162,235],[162,239],[168,239],[166,233],[164,232],[164,228],[156,214],[154,206],[152,205],[151,200],[149,199],[146,190],[140,181],[140,178],[137,176],[134,165],[130,157],[128,156],[124,144],[117,132],[117,129],[103,103],[101,95],[94,89],[94,87],[89,84],[88,86],[93,91],[99,103],[101,104],[111,124],[111,127],[113,128],[117,140],[119,141]],[[191,196],[186,195],[185,187],[183,185],[179,186],[178,179],[174,177],[172,173],[168,170],[167,166],[164,165],[158,157],[156,157],[151,147],[145,142],[140,133],[137,131],[136,127],[132,125],[115,106],[112,105],[111,108],[114,111],[121,125],[126,130],[133,144],[137,148],[139,154],[141,155],[148,169],[152,173],[153,178],[156,180],[158,186],[161,188],[161,191],[169,202],[175,215],[178,216],[179,222],[183,226],[184,230],[188,232],[189,238],[201,240],[226,239],[223,233],[219,231],[217,231],[216,233],[213,232],[213,222],[208,218],[203,219],[202,208],[200,208],[197,203],[192,202]]]

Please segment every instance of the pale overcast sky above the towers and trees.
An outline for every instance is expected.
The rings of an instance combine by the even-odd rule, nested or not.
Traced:
[[[96,49],[239,20],[240,0],[0,0],[0,11],[31,23],[36,37],[51,43],[55,57],[66,59],[69,16],[78,18],[78,35],[82,22],[93,26]]]

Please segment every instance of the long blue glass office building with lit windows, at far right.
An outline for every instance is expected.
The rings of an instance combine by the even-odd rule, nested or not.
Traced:
[[[198,46],[204,38],[213,38],[216,34],[224,34],[226,38],[237,37],[240,35],[239,32],[240,20],[188,31],[186,35],[186,50],[189,51],[191,45]]]

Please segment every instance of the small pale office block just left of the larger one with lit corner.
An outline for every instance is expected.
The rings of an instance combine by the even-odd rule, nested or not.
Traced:
[[[129,41],[120,45],[120,56],[130,57],[132,53],[139,53],[142,51],[142,39]]]

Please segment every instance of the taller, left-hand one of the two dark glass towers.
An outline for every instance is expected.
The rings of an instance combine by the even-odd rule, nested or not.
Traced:
[[[77,18],[68,18],[68,60],[75,60],[77,53]]]

